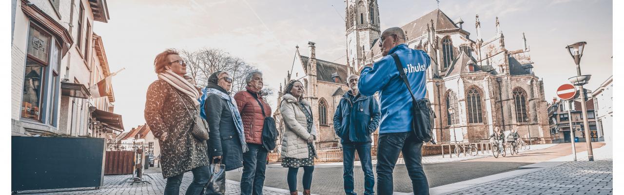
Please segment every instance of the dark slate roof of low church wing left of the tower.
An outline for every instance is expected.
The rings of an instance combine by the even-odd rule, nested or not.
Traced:
[[[310,57],[308,56],[301,56],[301,64],[303,64],[304,70],[308,69],[309,59]],[[334,73],[338,73],[338,76],[342,81],[345,81],[347,79],[347,76],[349,76],[346,65],[331,63],[322,59],[316,59],[316,80],[334,83],[333,79],[331,78],[332,74]]]

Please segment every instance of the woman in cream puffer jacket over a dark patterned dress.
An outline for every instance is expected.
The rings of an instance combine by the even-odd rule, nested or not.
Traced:
[[[281,166],[288,168],[288,189],[297,192],[297,172],[303,167],[303,194],[310,194],[314,158],[316,158],[316,127],[310,103],[303,99],[303,84],[292,80],[282,96],[280,112],[286,129],[281,143]]]

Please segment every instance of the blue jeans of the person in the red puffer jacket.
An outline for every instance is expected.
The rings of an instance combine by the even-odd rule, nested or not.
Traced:
[[[249,151],[243,153],[243,176],[240,178],[240,194],[262,194],[265,183],[267,151],[260,144],[247,144]]]

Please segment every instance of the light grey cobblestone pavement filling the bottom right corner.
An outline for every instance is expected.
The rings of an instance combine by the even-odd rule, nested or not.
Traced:
[[[613,160],[568,162],[450,194],[613,194]]]

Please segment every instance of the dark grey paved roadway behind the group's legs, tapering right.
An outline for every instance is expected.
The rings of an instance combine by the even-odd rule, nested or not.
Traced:
[[[456,163],[435,163],[424,164],[424,170],[427,175],[430,187],[442,186],[459,181],[466,181],[474,178],[481,178],[492,174],[504,173],[506,171],[516,170],[520,166],[531,163],[513,163],[513,162],[456,162]],[[373,167],[373,174],[376,167]],[[278,165],[270,165],[266,168],[265,186],[288,189],[286,183],[287,168]],[[228,171],[225,174],[227,179],[240,181],[242,172],[236,169]],[[407,169],[403,165],[397,165],[394,168],[394,191],[411,192],[412,183],[408,179]],[[301,191],[301,179],[303,178],[303,169],[298,174],[297,185]],[[355,192],[364,194],[364,173],[359,166],[353,169],[353,178]],[[375,184],[377,181],[375,181]],[[376,187],[376,186],[375,186]],[[343,187],[343,167],[342,166],[323,166],[315,167],[312,179],[311,191],[316,194],[344,194]]]

